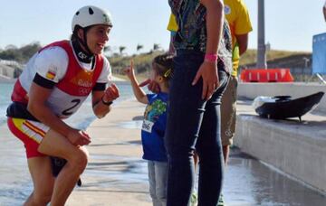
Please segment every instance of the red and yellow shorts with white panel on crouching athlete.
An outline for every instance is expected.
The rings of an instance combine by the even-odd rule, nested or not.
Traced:
[[[37,148],[45,134],[50,130],[49,126],[45,126],[41,122],[14,117],[8,117],[7,124],[14,136],[17,136],[24,143],[27,158],[44,156],[37,151]]]

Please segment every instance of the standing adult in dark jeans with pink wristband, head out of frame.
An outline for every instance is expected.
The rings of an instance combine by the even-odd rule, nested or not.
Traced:
[[[199,155],[198,205],[216,206],[223,180],[220,104],[231,63],[221,0],[169,0],[177,19],[166,145],[168,206],[187,206]]]

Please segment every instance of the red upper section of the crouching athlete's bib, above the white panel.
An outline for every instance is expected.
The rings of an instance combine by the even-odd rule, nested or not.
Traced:
[[[103,69],[103,58],[101,55],[95,55],[95,68],[90,71],[83,69],[78,63],[69,41],[53,42],[43,49],[53,46],[61,47],[67,52],[69,58],[66,74],[56,87],[73,96],[88,96],[91,93],[91,89],[95,86],[96,81],[99,79],[101,70]]]

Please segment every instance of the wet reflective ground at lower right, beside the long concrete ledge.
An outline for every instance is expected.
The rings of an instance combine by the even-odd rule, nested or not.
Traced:
[[[233,149],[225,173],[227,205],[326,205],[319,192]]]

